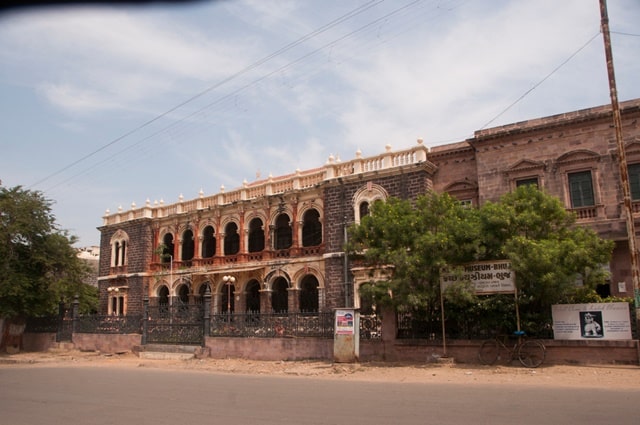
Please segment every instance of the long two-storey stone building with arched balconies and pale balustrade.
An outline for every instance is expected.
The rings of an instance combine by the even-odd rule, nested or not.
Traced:
[[[634,212],[640,217],[640,99],[621,104]],[[474,137],[243,183],[177,203],[107,211],[100,310],[140,314],[143,299],[197,303],[212,313],[305,312],[359,306],[363,281],[343,252],[346,227],[377,199],[448,192],[473,206],[535,183],[616,248],[603,295],[633,287],[610,106],[477,131]],[[634,214],[635,217],[635,214]]]

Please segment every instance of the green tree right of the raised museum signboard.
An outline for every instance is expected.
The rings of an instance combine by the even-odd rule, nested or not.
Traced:
[[[509,259],[524,327],[550,322],[551,305],[592,300],[604,283],[614,243],[576,224],[559,199],[527,185],[479,210],[485,255]],[[582,282],[577,285],[577,282]]]

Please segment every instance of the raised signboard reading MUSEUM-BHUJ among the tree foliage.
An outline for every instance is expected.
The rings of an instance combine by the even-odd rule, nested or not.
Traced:
[[[515,272],[511,269],[511,261],[509,260],[479,261],[461,267],[462,274],[440,272],[442,290],[458,282],[471,282],[478,295],[513,294],[515,292]]]

